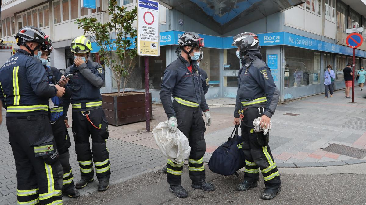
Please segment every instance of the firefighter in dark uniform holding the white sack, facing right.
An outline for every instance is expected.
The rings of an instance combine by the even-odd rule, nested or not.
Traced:
[[[211,124],[211,116],[205,94],[199,80],[195,63],[199,58],[199,47],[203,47],[203,38],[194,32],[186,32],[179,40],[181,55],[167,66],[161,84],[160,99],[169,119],[169,130],[178,128],[189,140],[191,153],[188,159],[189,175],[192,187],[213,191],[214,185],[205,181],[203,155],[206,151],[205,123]],[[172,97],[174,98],[172,102]],[[169,190],[177,197],[187,197],[187,191],[181,185],[183,163],[176,164],[168,159],[167,181]]]

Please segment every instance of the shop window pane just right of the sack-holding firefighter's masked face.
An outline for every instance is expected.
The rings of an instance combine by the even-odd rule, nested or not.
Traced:
[[[235,55],[236,56],[236,55]],[[203,48],[203,59],[199,67],[206,71],[210,87],[220,86],[220,49]]]

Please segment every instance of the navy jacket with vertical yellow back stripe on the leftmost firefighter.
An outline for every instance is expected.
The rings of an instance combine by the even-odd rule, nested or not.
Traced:
[[[0,88],[7,117],[47,114],[48,99],[57,94],[40,59],[22,49],[1,67]]]

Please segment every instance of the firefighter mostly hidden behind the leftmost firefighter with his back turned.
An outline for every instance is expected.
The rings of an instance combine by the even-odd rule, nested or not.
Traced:
[[[56,83],[61,79],[64,78],[62,76],[59,69],[55,67],[49,66],[49,59],[48,56],[52,52],[52,42],[47,46],[42,47],[42,55],[41,61],[43,66],[46,69],[47,77],[49,80],[49,84],[56,85]],[[68,78],[63,79],[59,82],[61,87],[64,87],[65,98],[70,98],[71,96],[71,89],[66,86],[68,82]],[[64,170],[63,175],[63,186],[62,186],[62,193],[67,194],[70,198],[76,198],[80,196],[78,190],[75,189],[74,185],[74,177],[72,175],[71,166],[69,163],[70,154],[68,152],[68,148],[71,146],[70,136],[68,135],[66,125],[64,123],[64,115],[63,115],[63,107],[61,98],[55,96],[51,98],[52,104],[50,104],[50,121],[53,131],[53,136],[56,140],[56,145],[59,150],[59,160]]]

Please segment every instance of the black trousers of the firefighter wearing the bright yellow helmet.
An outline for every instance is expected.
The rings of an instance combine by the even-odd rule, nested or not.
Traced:
[[[94,127],[87,120],[84,116],[86,114],[88,114],[90,121],[100,129]],[[98,180],[109,180],[111,165],[107,148],[108,121],[105,119],[102,108],[84,113],[72,112],[72,134],[74,135],[76,159],[79,162],[81,178],[90,180],[94,177],[93,160]],[[90,136],[93,142],[91,150]]]

